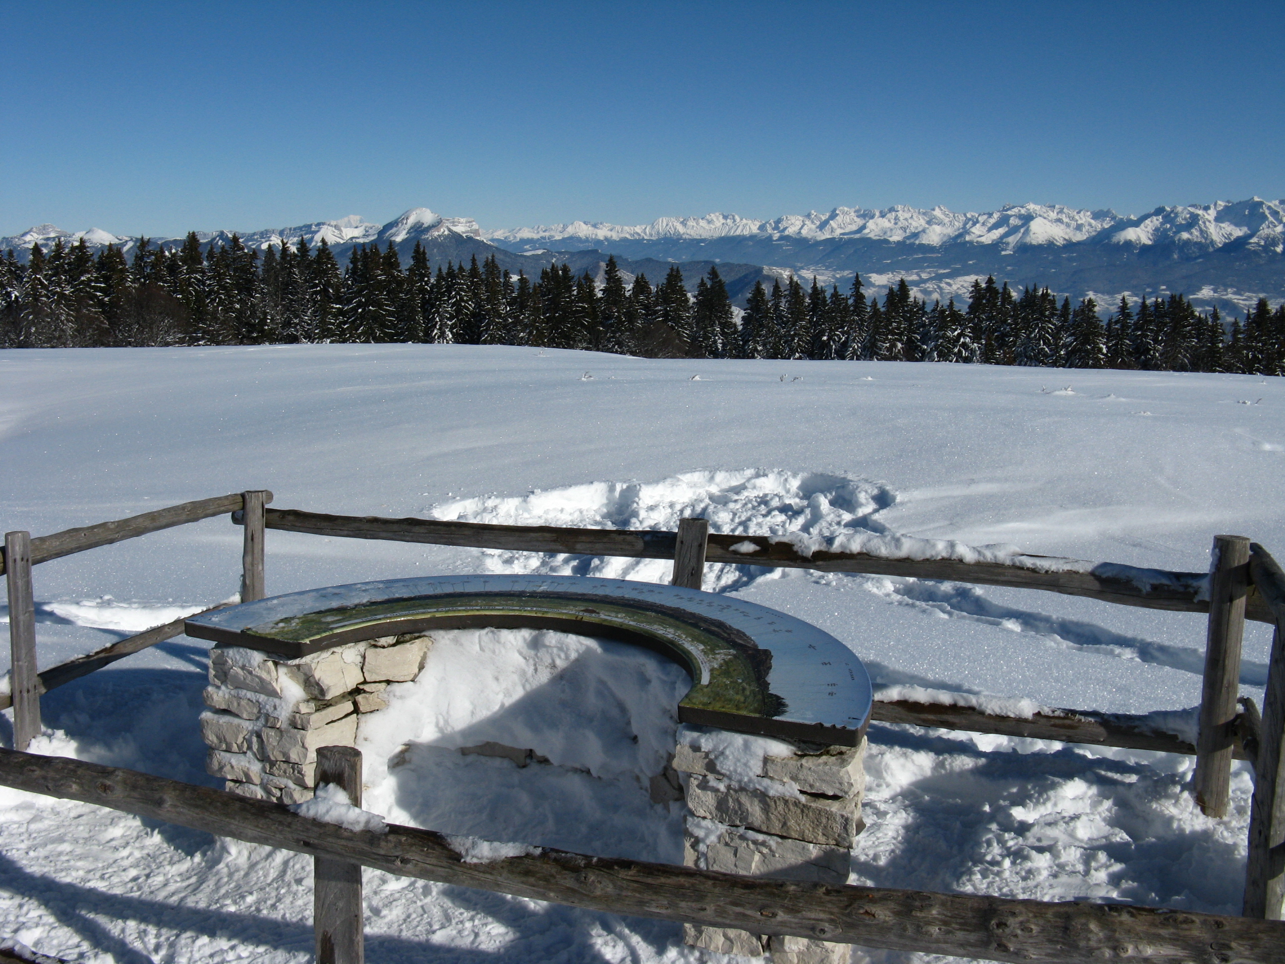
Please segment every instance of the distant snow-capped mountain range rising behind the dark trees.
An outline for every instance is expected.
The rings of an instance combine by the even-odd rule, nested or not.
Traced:
[[[128,253],[137,244],[137,238],[99,229],[72,234],[40,225],[0,238],[0,251],[13,248],[24,260],[33,243],[48,249],[59,238],[75,244],[82,237],[94,249],[116,244]],[[434,263],[495,256],[501,267],[514,272],[527,269],[528,274],[560,261],[592,271],[590,262],[600,263],[608,253],[640,265],[735,263],[741,272],[763,266],[767,275],[816,276],[840,287],[860,272],[873,292],[905,278],[920,297],[943,302],[966,297],[973,281],[987,276],[1014,288],[1047,285],[1055,293],[1094,297],[1101,305],[1114,303],[1122,294],[1182,293],[1198,307],[1243,314],[1261,297],[1285,299],[1285,199],[1159,207],[1141,216],[1059,204],[1009,206],[984,213],[943,207],[837,207],[828,213],[812,211],[768,221],[712,213],[632,226],[573,221],[500,230],[482,230],[473,219],[412,208],[386,225],[352,215],[239,237],[258,249],[299,238],[311,247],[325,240],[341,260],[357,245],[392,244],[405,261],[419,242]],[[198,238],[217,247],[231,234],[198,233]],[[181,239],[152,240],[170,247]],[[736,294],[741,302],[748,288]]]

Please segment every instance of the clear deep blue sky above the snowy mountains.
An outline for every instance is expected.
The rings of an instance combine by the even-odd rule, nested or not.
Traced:
[[[0,235],[1285,197],[1279,0],[4,0],[0,19]]]

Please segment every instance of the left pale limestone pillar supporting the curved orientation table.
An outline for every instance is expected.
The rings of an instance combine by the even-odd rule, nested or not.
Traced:
[[[200,715],[206,769],[245,797],[310,799],[317,747],[355,745],[361,715],[388,706],[388,684],[419,675],[432,643],[383,636],[301,659],[215,647]]]

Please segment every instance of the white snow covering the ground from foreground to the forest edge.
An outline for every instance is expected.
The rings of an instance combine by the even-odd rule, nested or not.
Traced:
[[[1216,532],[1285,551],[1282,411],[1285,383],[1248,375],[464,346],[9,351],[0,523],[41,535],[266,487],[279,508],[343,514],[660,528],[704,514],[720,532],[869,531],[1199,571]],[[221,517],[39,567],[41,666],[230,596],[239,550]],[[270,593],[667,569],[267,539]],[[1198,616],[752,567],[711,567],[711,585],[831,632],[876,689],[1122,712],[1199,701]],[[1241,681],[1255,698],[1268,643],[1252,625]],[[55,690],[33,748],[213,783],[197,729],[204,667],[206,644],[180,638]],[[559,634],[456,631],[428,668],[362,734],[368,807],[455,834],[678,859],[681,816],[637,780],[669,739],[685,686],[673,666]],[[1240,766],[1231,817],[1212,821],[1183,789],[1186,758],[878,724],[870,736],[853,883],[1239,913]],[[490,739],[550,762],[455,752]],[[0,937],[78,961],[311,956],[303,857],[9,790],[0,812]],[[366,888],[373,963],[702,959],[664,922],[374,871]]]

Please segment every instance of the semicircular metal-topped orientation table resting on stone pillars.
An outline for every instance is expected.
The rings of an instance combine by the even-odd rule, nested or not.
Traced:
[[[585,576],[433,576],[290,593],[193,616],[186,634],[296,659],[433,629],[532,627],[648,647],[678,662],[682,722],[855,747],[870,677],[839,640],[731,596]]]

